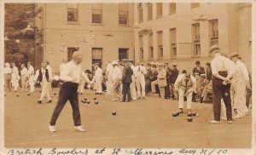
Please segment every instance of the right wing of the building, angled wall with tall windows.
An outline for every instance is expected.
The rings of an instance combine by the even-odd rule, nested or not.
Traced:
[[[252,9],[250,3],[137,3],[135,50],[141,61],[169,61],[191,71],[195,60],[212,60],[216,44],[230,55],[238,52],[251,71]]]

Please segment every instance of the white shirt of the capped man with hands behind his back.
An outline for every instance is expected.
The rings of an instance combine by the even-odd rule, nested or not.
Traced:
[[[212,75],[218,72],[228,72],[233,75],[236,72],[236,66],[232,60],[224,57],[223,55],[216,54],[211,61]]]

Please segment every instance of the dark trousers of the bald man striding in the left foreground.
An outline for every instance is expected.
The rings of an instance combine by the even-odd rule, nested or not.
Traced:
[[[55,110],[50,119],[50,125],[55,125],[57,118],[59,117],[63,107],[66,105],[67,100],[69,100],[73,109],[73,123],[74,126],[81,125],[81,117],[79,111],[79,96],[78,96],[78,83],[63,83],[61,85],[59,100],[55,106]]]

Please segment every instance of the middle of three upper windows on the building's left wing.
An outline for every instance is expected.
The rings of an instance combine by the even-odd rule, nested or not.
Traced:
[[[92,4],[91,23],[102,24],[102,3]]]

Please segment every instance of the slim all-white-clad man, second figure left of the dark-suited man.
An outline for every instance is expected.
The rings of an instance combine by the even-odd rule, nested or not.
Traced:
[[[106,67],[106,77],[107,77],[107,82],[106,82],[106,87],[107,87],[107,94],[106,95],[112,95],[113,94],[113,66],[108,61],[107,67]]]

